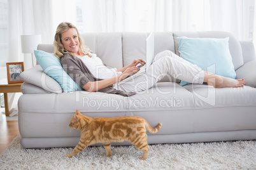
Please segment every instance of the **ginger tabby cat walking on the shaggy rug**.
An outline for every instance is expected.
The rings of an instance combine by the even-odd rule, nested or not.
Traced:
[[[149,152],[146,130],[150,133],[157,133],[161,126],[162,124],[159,123],[156,128],[152,128],[141,117],[91,118],[76,110],[76,114],[72,117],[69,127],[81,130],[81,138],[74,150],[66,156],[73,157],[89,145],[103,143],[106,156],[109,157],[111,141],[127,140],[143,151],[143,156],[140,159],[145,160]]]

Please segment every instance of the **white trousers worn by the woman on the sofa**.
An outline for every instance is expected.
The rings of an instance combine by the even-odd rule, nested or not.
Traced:
[[[131,81],[117,84],[115,88],[126,92],[145,91],[166,76],[169,77],[169,81],[174,78],[194,84],[203,84],[204,70],[171,51],[162,51],[155,56],[148,72]]]

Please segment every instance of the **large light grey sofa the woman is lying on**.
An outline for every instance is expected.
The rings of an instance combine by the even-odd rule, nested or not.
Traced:
[[[121,68],[135,58],[145,59],[147,35],[87,33],[82,38],[106,65]],[[20,75],[25,81],[21,87],[24,95],[18,101],[22,146],[75,147],[80,131],[70,129],[69,121],[76,109],[90,117],[134,115],[152,126],[161,122],[157,134],[148,134],[148,143],[255,140],[256,58],[252,42],[239,42],[228,32],[156,32],[155,54],[164,50],[178,54],[180,36],[229,37],[237,78],[244,78],[246,85],[215,89],[199,84],[180,86],[178,80],[163,79],[153,88],[130,97],[86,91],[62,93],[60,85],[36,65]],[[52,44],[39,44],[38,49],[54,51]]]

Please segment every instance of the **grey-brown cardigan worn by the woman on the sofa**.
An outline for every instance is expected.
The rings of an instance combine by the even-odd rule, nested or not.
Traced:
[[[91,81],[101,81],[103,79],[97,79],[92,75],[90,70],[86,67],[83,61],[71,54],[65,54],[64,57],[61,58],[60,63],[63,69],[68,73],[68,75],[83,89],[83,86],[87,84],[87,82]],[[110,93],[115,95],[122,96],[132,96],[135,95],[135,92],[127,93],[124,91],[120,91],[113,88],[113,85],[108,86],[107,88],[98,90],[103,93]]]

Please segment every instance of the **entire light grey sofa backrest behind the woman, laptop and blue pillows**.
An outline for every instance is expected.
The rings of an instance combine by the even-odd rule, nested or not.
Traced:
[[[85,33],[81,37],[85,44],[97,54],[103,63],[110,67],[120,69],[129,65],[134,59],[146,58],[146,37],[148,32],[104,32]],[[243,65],[241,45],[231,33],[220,31],[207,32],[155,32],[155,55],[164,50],[170,50],[179,55],[177,37],[186,36],[194,38],[225,38],[229,37],[234,69]],[[52,44],[39,44],[39,50],[53,53]]]

